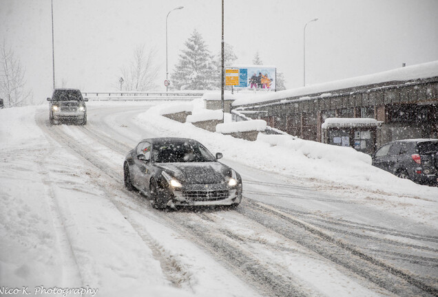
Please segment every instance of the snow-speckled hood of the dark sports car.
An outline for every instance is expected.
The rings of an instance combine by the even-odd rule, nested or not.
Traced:
[[[230,168],[219,162],[160,163],[157,167],[183,184],[220,184],[227,182]]]

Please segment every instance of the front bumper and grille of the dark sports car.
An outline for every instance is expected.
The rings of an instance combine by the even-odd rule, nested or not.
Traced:
[[[174,206],[230,206],[242,201],[242,184],[233,188],[220,185],[191,185],[172,191],[169,205]]]

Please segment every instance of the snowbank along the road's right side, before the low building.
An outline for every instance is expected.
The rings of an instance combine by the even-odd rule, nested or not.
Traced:
[[[437,226],[438,188],[399,179],[371,165],[371,157],[353,148],[297,139],[290,135],[260,135],[255,142],[211,133],[191,123],[181,124],[159,115],[175,103],[152,107],[138,115],[140,124],[166,136],[194,138],[213,153],[221,152],[232,166],[242,164],[300,179],[317,190],[331,191],[415,221]],[[194,100],[193,113],[202,113],[202,100]],[[230,118],[227,116],[226,118]],[[227,122],[227,121],[226,121]]]

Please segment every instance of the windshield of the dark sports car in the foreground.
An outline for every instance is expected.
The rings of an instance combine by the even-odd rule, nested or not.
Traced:
[[[216,158],[202,144],[190,142],[154,144],[153,155],[157,163],[216,161]]]

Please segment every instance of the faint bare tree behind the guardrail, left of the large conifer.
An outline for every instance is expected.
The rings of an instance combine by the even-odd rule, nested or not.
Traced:
[[[121,69],[124,91],[149,91],[156,88],[156,78],[160,67],[154,63],[156,49],[145,51],[145,45],[136,47],[134,59],[129,67]]]

